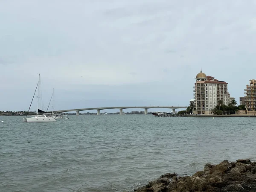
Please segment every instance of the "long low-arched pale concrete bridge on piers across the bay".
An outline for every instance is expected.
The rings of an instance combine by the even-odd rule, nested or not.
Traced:
[[[120,115],[122,115],[123,109],[131,109],[131,108],[141,108],[145,110],[145,115],[148,114],[148,109],[151,108],[166,108],[166,109],[172,109],[172,112],[175,113],[175,109],[183,109],[187,108],[187,106],[126,106],[126,107],[102,107],[102,108],[81,108],[81,109],[67,109],[67,110],[59,110],[59,111],[53,111],[53,113],[63,113],[63,112],[69,112],[69,111],[76,111],[76,115],[79,115],[80,111],[87,111],[87,110],[97,110],[97,115],[100,114],[100,110],[104,109],[119,109]]]

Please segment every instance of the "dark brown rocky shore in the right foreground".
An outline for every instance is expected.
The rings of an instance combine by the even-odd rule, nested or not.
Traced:
[[[134,192],[256,192],[256,162],[207,163],[204,171],[184,177],[166,173]]]

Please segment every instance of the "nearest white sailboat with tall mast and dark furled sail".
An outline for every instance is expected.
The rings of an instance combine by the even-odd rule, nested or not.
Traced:
[[[26,114],[26,117],[23,118],[23,122],[56,122],[56,119],[52,116],[47,116],[45,111],[42,111],[39,109],[39,98],[40,98],[40,85],[41,85],[41,79],[40,79],[40,73],[38,74],[39,75],[39,78],[38,78],[38,84],[35,88],[35,93],[36,93],[36,90],[38,89],[38,110],[37,110],[37,115],[34,116],[34,117],[27,117],[29,111],[27,112]],[[29,110],[30,110],[30,107],[31,107],[31,104],[33,102],[33,99],[34,99],[34,96],[35,96],[35,93],[33,95],[33,98],[32,98],[32,101],[30,103],[30,106],[29,106]]]

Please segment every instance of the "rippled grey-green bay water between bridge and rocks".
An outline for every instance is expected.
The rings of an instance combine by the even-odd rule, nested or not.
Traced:
[[[167,172],[256,160],[256,118],[80,115],[51,123],[0,116],[0,191],[132,192]]]

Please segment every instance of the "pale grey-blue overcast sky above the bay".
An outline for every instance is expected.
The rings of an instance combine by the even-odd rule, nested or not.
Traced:
[[[188,106],[201,68],[239,103],[256,79],[255,10],[255,0],[0,0],[0,111],[28,110],[38,73],[54,110]]]

